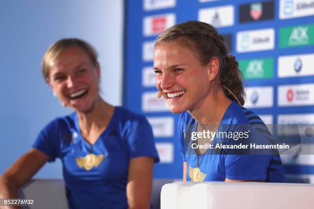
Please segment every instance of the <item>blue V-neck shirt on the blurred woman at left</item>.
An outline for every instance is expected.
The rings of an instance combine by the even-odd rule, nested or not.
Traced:
[[[106,130],[91,145],[85,141],[76,113],[51,121],[33,148],[61,158],[69,208],[127,208],[126,185],[131,158],[159,161],[147,119],[115,107]]]

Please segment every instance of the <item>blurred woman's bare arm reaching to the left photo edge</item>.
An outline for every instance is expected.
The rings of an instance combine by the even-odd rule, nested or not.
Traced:
[[[49,157],[30,149],[0,176],[0,198],[16,198],[18,188],[26,183],[48,161]]]

